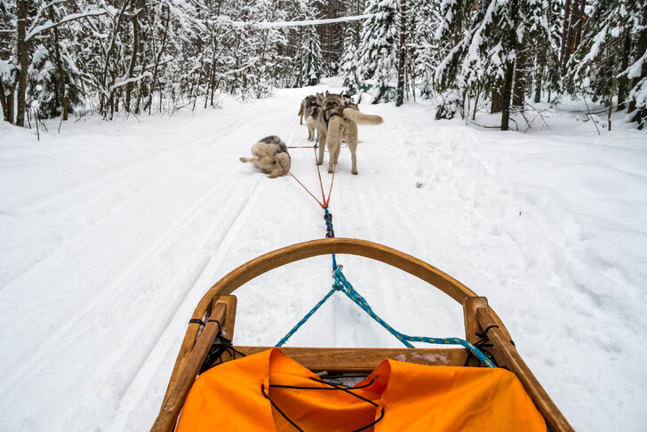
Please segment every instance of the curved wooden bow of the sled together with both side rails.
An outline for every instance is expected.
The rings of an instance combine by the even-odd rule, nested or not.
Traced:
[[[509,332],[507,332],[499,316],[487,305],[487,300],[483,297],[478,297],[467,286],[438,268],[427,264],[427,262],[382,244],[353,238],[326,238],[293,244],[274,252],[268,252],[246,262],[228,273],[227,276],[222,277],[216,284],[213,284],[197,304],[192,318],[204,320],[205,317],[210,317],[213,320],[224,322],[223,320],[228,319],[228,308],[235,308],[235,304],[232,304],[231,301],[229,304],[220,301],[220,296],[227,296],[235,292],[243,284],[274,268],[297,260],[332,253],[351,254],[379,260],[434,285],[437,289],[463,305],[467,340],[469,341],[473,342],[475,340],[476,331],[496,324],[498,328],[491,329],[488,335],[491,340],[496,342],[494,354],[499,362],[506,364],[512,372],[515,372],[533,402],[537,405],[539,412],[542,413],[552,429],[556,431],[573,430],[546,391],[541,387],[539,381],[532,375],[527,365],[523,363],[521,356],[516,353],[513,344],[510,343]],[[229,317],[231,318],[233,315],[233,312],[229,310]],[[174,428],[188,390],[193,380],[196,379],[196,368],[199,368],[204,362],[206,350],[211,347],[219,330],[215,324],[207,323],[198,338],[200,329],[200,324],[188,325],[187,333],[169,380],[169,387],[166,390],[162,408],[151,430],[166,431]],[[229,338],[231,338],[231,335],[229,335]]]

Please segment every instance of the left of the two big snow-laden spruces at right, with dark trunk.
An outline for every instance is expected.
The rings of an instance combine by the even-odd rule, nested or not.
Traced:
[[[462,89],[464,96],[491,91],[491,111],[502,113],[506,131],[515,66],[531,44],[546,44],[546,13],[541,0],[443,0],[436,36],[453,48],[436,69],[437,89]]]

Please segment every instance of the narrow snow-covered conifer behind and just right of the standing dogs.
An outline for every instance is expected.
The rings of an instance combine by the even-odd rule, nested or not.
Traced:
[[[397,78],[398,13],[397,0],[369,0],[366,13],[373,16],[364,22],[359,55],[363,78],[375,82],[373,103],[392,100]]]

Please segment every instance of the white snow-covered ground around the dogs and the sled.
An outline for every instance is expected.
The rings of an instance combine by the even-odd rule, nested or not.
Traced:
[[[292,178],[238,157],[268,134],[307,145],[299,103],[326,88],[92,117],[40,141],[0,125],[0,430],[148,430],[204,291],[323,237],[322,210]],[[488,297],[577,430],[643,430],[647,134],[616,121],[598,135],[560,111],[523,134],[437,122],[416,103],[361,108],[385,124],[360,127],[358,176],[341,152],[337,236],[408,252]],[[292,149],[292,172],[318,188],[312,150]],[[386,265],[338,260],[396,329],[462,337],[453,300]],[[275,344],[330,284],[319,257],[245,285],[236,343]],[[341,296],[289,344],[398,346]]]

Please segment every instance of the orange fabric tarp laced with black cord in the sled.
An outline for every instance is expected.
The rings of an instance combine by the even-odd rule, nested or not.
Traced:
[[[372,382],[371,382],[372,380]],[[177,430],[541,431],[546,424],[512,372],[385,360],[351,390],[334,390],[277,349],[220,364],[194,383]],[[276,388],[290,386],[327,390]],[[265,392],[269,399],[263,395]]]

